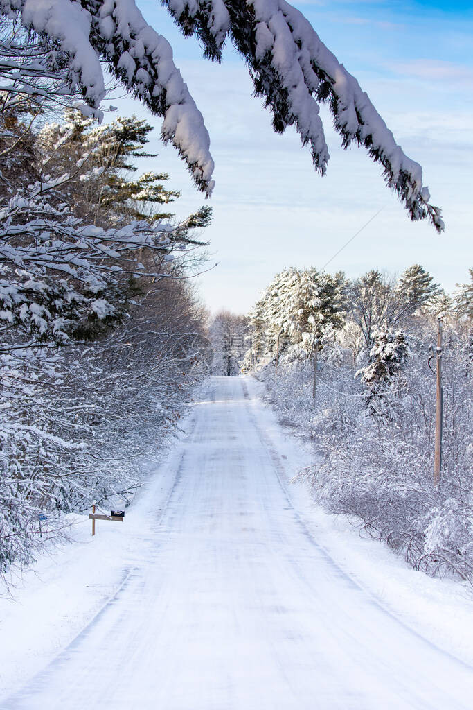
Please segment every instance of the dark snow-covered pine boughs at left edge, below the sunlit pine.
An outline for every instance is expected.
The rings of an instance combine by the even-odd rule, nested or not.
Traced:
[[[17,193],[0,209],[0,323],[40,342],[89,337],[120,320],[129,278],[169,274],[160,262],[172,260],[174,249],[182,257],[184,241],[192,241],[189,229],[206,219],[200,215],[199,224],[196,214],[177,225],[133,222],[121,229],[84,225],[48,201],[47,187],[33,186],[28,198]]]

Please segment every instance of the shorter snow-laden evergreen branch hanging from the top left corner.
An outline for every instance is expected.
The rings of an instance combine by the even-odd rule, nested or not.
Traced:
[[[135,97],[163,116],[163,140],[174,144],[196,185],[211,194],[213,160],[204,119],[174,65],[171,46],[145,22],[135,0],[0,0],[0,11],[19,13],[24,26],[60,44],[69,81],[94,109],[105,95],[106,60]]]

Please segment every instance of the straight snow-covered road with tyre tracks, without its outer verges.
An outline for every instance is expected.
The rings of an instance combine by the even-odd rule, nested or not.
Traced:
[[[210,381],[156,477],[165,495],[138,501],[146,523],[116,596],[2,708],[472,709],[472,668],[309,532],[255,388]]]

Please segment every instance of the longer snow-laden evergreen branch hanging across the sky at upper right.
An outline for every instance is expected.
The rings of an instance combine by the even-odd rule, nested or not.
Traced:
[[[313,163],[325,173],[328,148],[319,116],[327,102],[343,147],[355,141],[384,168],[384,179],[413,221],[443,230],[440,209],[429,204],[421,165],[408,158],[355,77],[325,47],[304,15],[285,0],[164,0],[184,35],[195,33],[208,57],[220,60],[226,35],[245,58],[255,94],[272,110],[274,130],[295,126]],[[228,11],[228,16],[225,11]]]

